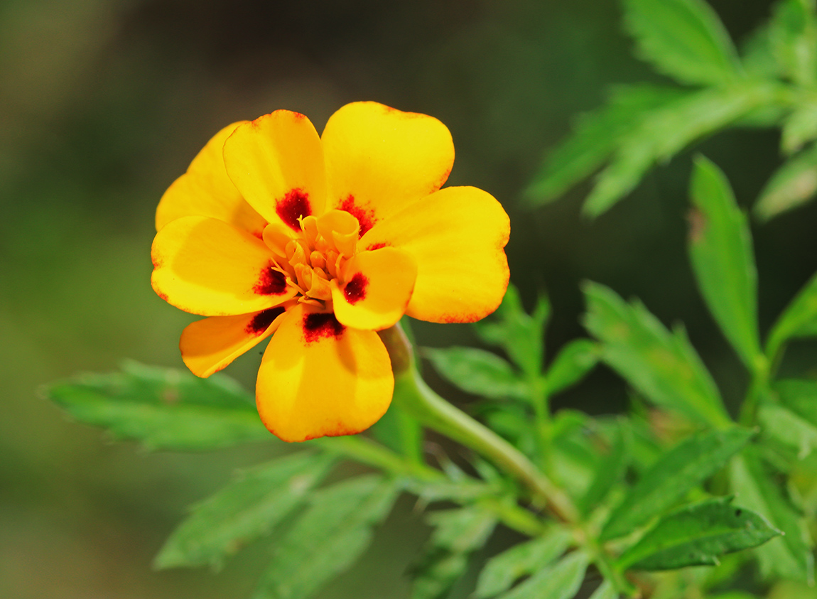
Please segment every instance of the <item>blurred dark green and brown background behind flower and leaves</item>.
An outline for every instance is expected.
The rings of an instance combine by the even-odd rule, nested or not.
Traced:
[[[770,2],[712,0],[734,38]],[[556,349],[582,334],[578,284],[638,296],[682,320],[725,396],[745,379],[699,299],[685,253],[690,152],[598,221],[588,186],[528,210],[520,192],[572,119],[612,83],[656,80],[631,56],[615,0],[2,0],[0,2],[0,597],[248,597],[269,543],[220,574],[154,572],[184,508],[277,445],[145,454],[69,422],[45,382],[124,358],[181,366],[191,317],[150,289],[154,209],[225,123],[279,108],[320,131],[348,101],[432,114],[457,149],[449,182],[488,190],[511,215],[511,279],[547,289]],[[773,131],[703,142],[748,205],[779,164]],[[817,206],[754,227],[761,320],[817,268]],[[417,324],[428,346],[473,344],[467,326]],[[813,369],[801,344],[786,368]],[[227,373],[252,387],[251,352]],[[441,391],[453,391],[429,373]],[[456,396],[467,404],[472,398]],[[599,369],[557,405],[613,413],[626,390]],[[404,498],[364,560],[321,595],[404,597],[427,530]],[[485,552],[509,543],[498,534]],[[465,585],[463,585],[465,588]]]

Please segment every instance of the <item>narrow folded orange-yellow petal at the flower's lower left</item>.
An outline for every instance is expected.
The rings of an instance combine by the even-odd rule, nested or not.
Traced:
[[[283,307],[235,316],[210,316],[188,324],[181,333],[181,359],[197,377],[225,368],[278,329]]]

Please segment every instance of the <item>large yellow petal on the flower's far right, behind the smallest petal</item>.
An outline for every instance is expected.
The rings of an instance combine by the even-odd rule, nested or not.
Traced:
[[[377,223],[359,245],[402,248],[417,261],[406,314],[431,322],[474,322],[502,302],[510,230],[493,196],[475,187],[447,187]]]

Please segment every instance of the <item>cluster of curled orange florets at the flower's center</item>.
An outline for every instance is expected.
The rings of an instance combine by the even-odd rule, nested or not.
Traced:
[[[275,253],[272,268],[287,275],[289,282],[298,288],[299,302],[331,307],[329,281],[338,279],[344,288],[344,266],[357,252],[359,222],[349,212],[330,210],[319,218],[301,217],[298,224],[300,230],[294,239],[275,225],[264,230],[264,241]],[[352,292],[354,295],[354,289]]]

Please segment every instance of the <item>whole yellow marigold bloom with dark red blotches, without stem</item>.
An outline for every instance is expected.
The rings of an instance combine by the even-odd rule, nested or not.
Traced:
[[[507,214],[474,187],[440,190],[453,157],[436,118],[374,102],[322,136],[288,110],[218,132],[156,210],[153,288],[208,316],[181,334],[188,368],[208,377],[275,333],[256,386],[270,431],[377,422],[394,376],[376,331],[480,320],[507,287]]]

